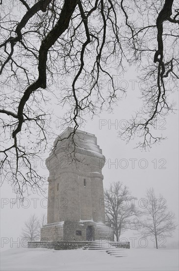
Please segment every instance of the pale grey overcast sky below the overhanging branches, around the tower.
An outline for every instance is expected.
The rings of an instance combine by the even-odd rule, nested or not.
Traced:
[[[124,78],[118,80],[119,84],[127,82],[127,97],[124,97],[114,107],[113,113],[102,112],[100,116],[94,117],[93,120],[86,117],[86,124],[80,130],[97,136],[98,145],[100,145],[102,153],[106,157],[106,165],[102,169],[104,188],[108,188],[111,182],[120,180],[129,187],[132,195],[138,199],[135,202],[138,204],[138,201],[145,197],[146,189],[153,187],[156,194],[163,195],[169,209],[175,212],[178,220],[179,116],[178,113],[170,114],[166,121],[158,124],[156,132],[159,133],[158,135],[167,136],[168,139],[163,140],[160,145],[153,146],[150,151],[142,152],[135,149],[139,138],[132,140],[129,144],[118,138],[118,128],[125,124],[125,120],[130,119],[141,104],[138,83],[135,84],[135,87],[132,87],[130,81],[132,79],[136,78],[134,70],[131,68]],[[178,101],[178,94],[173,94],[172,99]],[[62,113],[59,112],[62,112],[62,109],[59,105],[55,105],[54,101],[54,114],[62,117]],[[55,126],[55,117],[53,122]],[[63,132],[58,127],[56,128],[57,135]],[[46,153],[46,157],[48,156],[49,154]],[[47,169],[40,168],[40,172],[46,173],[48,176]],[[0,233],[1,237],[9,238],[9,243],[10,238],[16,240],[20,237],[24,222],[30,214],[36,213],[40,216],[41,213],[47,212],[47,202],[38,195],[31,194],[29,196],[28,201],[26,201],[27,208],[22,207],[21,204],[20,206],[10,204],[11,198],[16,198],[16,195],[12,193],[10,185],[3,183],[1,201],[4,204],[1,205],[0,209]],[[36,206],[33,198],[39,199]],[[178,230],[176,230],[173,240],[176,239],[178,239]],[[8,248],[8,245],[4,245],[4,248]]]

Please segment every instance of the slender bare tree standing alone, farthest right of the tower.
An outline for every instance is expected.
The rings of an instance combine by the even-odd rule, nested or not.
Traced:
[[[172,237],[177,227],[175,214],[168,211],[162,195],[156,198],[153,188],[147,190],[141,213],[143,216],[136,221],[137,229],[143,237],[154,237],[158,249],[158,239]]]

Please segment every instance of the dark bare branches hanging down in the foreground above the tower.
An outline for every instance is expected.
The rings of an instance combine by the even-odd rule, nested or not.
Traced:
[[[160,141],[151,129],[173,109],[168,96],[179,78],[177,1],[6,3],[0,2],[2,182],[10,181],[22,197],[28,187],[42,190],[44,178],[34,161],[54,135],[51,98],[66,106],[62,125],[71,125],[75,133],[86,114],[111,110],[125,93],[114,78],[128,65],[139,66],[148,86],[142,111],[120,136],[129,140],[139,134],[143,148]]]

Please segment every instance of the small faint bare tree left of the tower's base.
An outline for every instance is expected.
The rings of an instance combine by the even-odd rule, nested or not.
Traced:
[[[30,215],[29,219],[25,222],[21,237],[26,238],[28,241],[39,240],[40,228],[46,223],[46,214],[42,214],[40,218],[35,214]]]

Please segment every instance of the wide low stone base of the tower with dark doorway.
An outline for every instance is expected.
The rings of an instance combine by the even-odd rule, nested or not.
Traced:
[[[41,228],[41,241],[114,240],[111,227],[93,221],[57,222]]]

